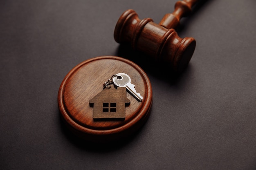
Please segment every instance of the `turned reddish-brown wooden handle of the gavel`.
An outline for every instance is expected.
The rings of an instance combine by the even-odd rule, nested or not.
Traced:
[[[159,25],[164,26],[166,29],[175,28],[180,24],[180,19],[187,16],[192,11],[193,5],[198,0],[183,0],[175,3],[175,10],[173,13],[166,13]]]

